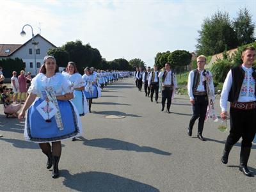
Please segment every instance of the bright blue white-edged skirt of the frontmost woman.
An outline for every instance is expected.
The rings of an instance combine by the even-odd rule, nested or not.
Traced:
[[[73,138],[81,133],[81,122],[79,116],[77,116],[77,109],[73,106],[72,102],[69,100],[58,100],[63,123],[63,130],[60,131],[54,116],[51,118],[51,122],[45,122],[44,118],[37,111],[36,107],[42,101],[42,99],[36,99],[28,110],[24,131],[26,140],[45,143]]]

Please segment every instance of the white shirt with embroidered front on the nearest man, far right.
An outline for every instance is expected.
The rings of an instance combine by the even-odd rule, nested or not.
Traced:
[[[252,77],[253,69],[252,67],[246,68],[242,65],[245,72],[243,84],[241,86],[240,94],[237,102],[253,102],[256,100],[255,97],[255,80]],[[227,111],[228,94],[232,86],[232,71],[230,70],[227,74],[225,82],[223,84],[221,97],[220,97],[220,107],[221,111]]]

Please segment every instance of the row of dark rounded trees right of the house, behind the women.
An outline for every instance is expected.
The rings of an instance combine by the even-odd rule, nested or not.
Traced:
[[[102,70],[135,70],[136,67],[145,68],[145,62],[135,58],[130,61],[124,58],[107,61],[102,58],[98,49],[93,48],[90,44],[83,45],[81,40],[76,42],[67,42],[54,49],[50,49],[47,54],[56,58],[60,67],[67,67],[68,61],[74,61],[77,70],[83,73],[85,67],[95,67]]]

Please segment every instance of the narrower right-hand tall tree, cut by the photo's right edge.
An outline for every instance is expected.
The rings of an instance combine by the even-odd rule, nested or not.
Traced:
[[[255,36],[253,36],[255,24],[252,21],[252,15],[246,8],[239,10],[237,18],[233,21],[233,27],[239,45],[246,45],[255,41]]]

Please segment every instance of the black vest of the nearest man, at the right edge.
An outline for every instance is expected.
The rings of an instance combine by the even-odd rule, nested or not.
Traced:
[[[255,68],[252,68],[252,69],[253,69],[252,77],[254,80],[256,80]],[[236,103],[240,95],[245,72],[241,65],[231,68],[231,72],[232,72],[232,86],[231,86],[230,92],[228,93],[228,101],[232,103]],[[256,91],[256,83],[255,83],[255,91]],[[254,94],[256,95],[255,91],[254,91]]]

